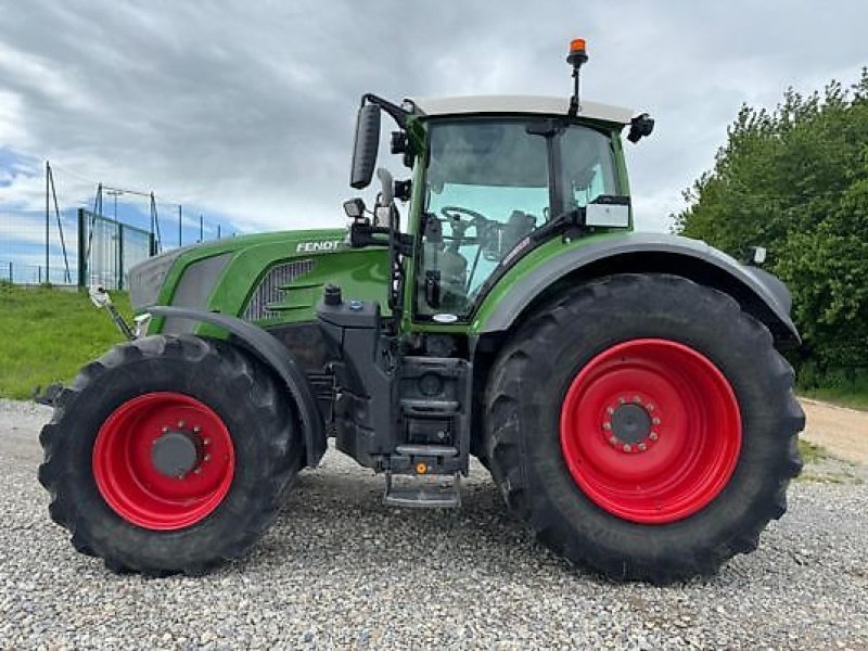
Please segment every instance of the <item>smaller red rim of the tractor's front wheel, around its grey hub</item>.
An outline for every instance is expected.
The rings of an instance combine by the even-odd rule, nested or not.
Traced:
[[[195,446],[188,472],[169,476],[153,448],[167,432]],[[207,518],[232,484],[234,448],[220,417],[178,393],[150,393],[124,403],[105,420],[93,447],[93,476],[108,506],[138,526],[179,529]]]

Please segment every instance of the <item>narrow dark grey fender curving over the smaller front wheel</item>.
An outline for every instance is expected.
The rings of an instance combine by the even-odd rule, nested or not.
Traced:
[[[189,319],[202,323],[210,323],[230,332],[250,346],[254,354],[267,363],[286,384],[290,395],[295,400],[295,408],[304,430],[306,464],[316,467],[326,454],[327,439],[322,417],[317,409],[314,392],[307,376],[278,340],[265,330],[235,317],[218,312],[207,312],[183,307],[155,306],[150,308],[152,315]]]

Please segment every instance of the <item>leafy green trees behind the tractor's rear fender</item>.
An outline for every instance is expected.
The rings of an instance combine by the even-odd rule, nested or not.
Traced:
[[[676,231],[737,257],[768,247],[821,372],[868,367],[868,68],[848,90],[792,89],[769,112],[742,106],[714,168],[685,191]]]

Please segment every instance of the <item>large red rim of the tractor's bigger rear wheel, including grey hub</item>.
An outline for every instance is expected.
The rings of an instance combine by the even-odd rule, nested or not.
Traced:
[[[729,482],[741,450],[738,400],[693,348],[624,342],[570,385],[561,449],[573,480],[600,508],[631,522],[676,522]]]

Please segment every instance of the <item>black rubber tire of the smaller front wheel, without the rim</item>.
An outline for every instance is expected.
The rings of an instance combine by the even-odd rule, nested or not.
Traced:
[[[92,465],[106,419],[152,392],[182,394],[207,406],[234,448],[231,484],[219,505],[174,531],[120,516],[100,492]],[[61,394],[40,442],[39,481],[52,497],[49,512],[71,532],[73,546],[101,557],[114,572],[151,576],[199,575],[244,557],[275,520],[304,458],[290,398],[272,373],[230,344],[191,335],[123,344],[86,366]]]

